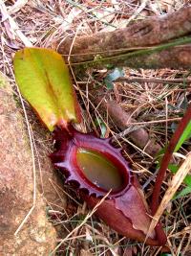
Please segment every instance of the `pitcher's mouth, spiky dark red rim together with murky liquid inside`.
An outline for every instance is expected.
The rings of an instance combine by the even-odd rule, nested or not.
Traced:
[[[89,196],[117,198],[131,186],[132,175],[121,150],[110,139],[97,138],[70,128],[53,132],[55,148],[53,165],[66,175],[67,183],[75,183]]]

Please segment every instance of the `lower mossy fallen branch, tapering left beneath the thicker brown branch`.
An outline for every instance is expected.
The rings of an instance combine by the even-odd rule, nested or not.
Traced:
[[[186,38],[191,43],[191,37]],[[162,50],[165,48],[165,50]],[[130,67],[144,69],[174,68],[189,69],[191,66],[191,45],[171,47],[171,44],[161,45],[152,49],[134,51],[109,58],[96,58],[85,62],[72,62],[70,65],[83,70],[84,68]]]

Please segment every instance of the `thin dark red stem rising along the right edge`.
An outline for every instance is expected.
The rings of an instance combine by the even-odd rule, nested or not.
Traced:
[[[160,195],[160,188],[162,181],[164,179],[164,176],[166,174],[166,169],[168,168],[168,164],[171,160],[171,156],[180,140],[180,136],[183,132],[183,130],[187,127],[188,123],[191,121],[191,105],[188,105],[188,108],[180,120],[180,124],[178,128],[176,129],[175,133],[173,134],[169,145],[164,153],[164,156],[161,160],[160,168],[159,168],[159,174],[156,178],[155,187],[153,190],[153,197],[152,197],[152,203],[151,203],[151,211],[152,215],[154,216],[155,213],[158,210],[159,207],[159,195]]]

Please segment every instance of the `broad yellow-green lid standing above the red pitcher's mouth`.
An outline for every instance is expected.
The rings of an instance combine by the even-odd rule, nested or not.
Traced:
[[[79,108],[68,67],[63,58],[48,49],[25,48],[13,59],[15,79],[23,97],[42,122],[53,131],[79,122]]]

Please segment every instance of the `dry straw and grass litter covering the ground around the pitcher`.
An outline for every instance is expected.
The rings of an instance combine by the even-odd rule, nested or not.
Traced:
[[[125,0],[44,0],[44,1],[4,1],[5,13],[9,19],[0,28],[0,70],[10,80],[15,99],[19,104],[19,95],[13,78],[12,57],[16,50],[25,46],[53,48],[53,42],[64,40],[76,35],[91,35],[99,32],[110,32],[117,28],[125,28],[132,22],[151,16],[160,16],[179,10],[187,1],[125,1]],[[5,18],[5,17],[4,17]],[[3,17],[2,17],[3,20]],[[173,134],[174,129],[191,100],[191,85],[184,78],[191,79],[187,70],[124,70],[116,69],[117,74],[126,79],[139,81],[104,82],[109,72],[107,70],[88,71],[86,78],[79,81],[74,79],[74,87],[81,107],[83,108],[84,125],[90,131],[96,128],[99,135],[108,137],[109,134],[117,139],[121,147],[131,159],[131,168],[138,175],[138,180],[146,198],[150,199],[154,185],[158,159],[151,152],[140,149],[128,136],[132,125],[121,130],[110,118],[107,109],[99,107],[94,102],[94,84],[101,84],[110,100],[113,100],[125,112],[136,120],[134,128],[144,128],[149,137],[155,139],[159,149],[164,148]],[[87,82],[88,76],[88,82]],[[178,79],[178,81],[176,81]],[[171,80],[171,82],[168,82]],[[89,87],[88,84],[92,84]],[[25,103],[28,120],[32,127],[32,136],[37,153],[35,160],[38,165],[49,147],[52,149],[51,136],[45,129],[40,128],[37,118],[32,114],[29,105]],[[21,108],[21,113],[23,110]],[[40,145],[40,147],[39,147]],[[40,150],[39,150],[40,149]],[[188,141],[174,155],[174,161],[179,164],[191,150]],[[41,156],[42,155],[42,156]],[[42,170],[41,170],[42,171]],[[39,171],[40,172],[40,171]],[[167,171],[161,195],[168,187],[172,177]],[[39,180],[38,182],[43,182]],[[179,192],[185,188],[182,183]],[[53,190],[56,189],[53,185]],[[80,256],[133,256],[160,255],[159,249],[131,241],[117,234],[104,222],[91,216],[85,220],[89,212],[86,204],[75,195],[73,188],[65,185],[62,188],[65,195],[64,209],[53,208],[49,203],[47,209],[50,221],[56,227],[57,255]],[[191,208],[190,194],[174,198],[163,213],[161,221],[165,226],[169,255],[191,255]],[[51,205],[51,206],[50,206]],[[81,224],[83,223],[83,224]],[[79,226],[78,228],[76,228]],[[164,255],[164,254],[163,254]]]

